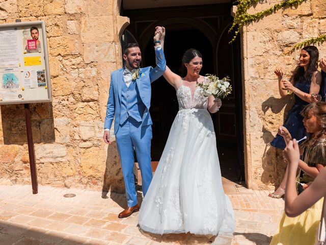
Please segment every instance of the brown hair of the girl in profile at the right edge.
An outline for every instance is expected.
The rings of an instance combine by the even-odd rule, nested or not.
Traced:
[[[308,113],[311,113],[317,117],[321,123],[321,131],[315,133],[309,133],[308,139],[301,145],[313,145],[318,139],[326,138],[326,103],[325,102],[313,102],[307,105],[301,112],[301,115],[308,117]]]

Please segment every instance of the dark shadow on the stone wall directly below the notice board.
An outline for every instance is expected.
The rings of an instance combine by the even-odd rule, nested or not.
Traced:
[[[51,103],[30,104],[34,143],[55,142],[55,127]],[[1,105],[4,144],[27,143],[25,109],[23,104]]]

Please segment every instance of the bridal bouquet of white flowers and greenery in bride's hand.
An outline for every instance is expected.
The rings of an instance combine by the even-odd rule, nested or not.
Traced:
[[[202,88],[202,95],[209,96],[213,95],[215,98],[224,99],[232,91],[232,87],[229,83],[229,77],[219,79],[215,75],[206,74],[207,80],[204,83],[198,83],[197,86]]]

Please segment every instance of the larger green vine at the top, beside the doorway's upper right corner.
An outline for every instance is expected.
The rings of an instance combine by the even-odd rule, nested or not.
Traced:
[[[235,28],[236,30],[234,32],[234,36],[232,40],[229,43],[232,43],[235,40],[236,36],[240,32],[244,24],[247,24],[252,21],[257,21],[263,18],[265,15],[272,14],[283,7],[292,7],[292,6],[300,5],[304,1],[306,0],[284,0],[281,3],[276,4],[273,7],[270,7],[269,9],[263,10],[259,13],[248,14],[247,13],[248,9],[254,4],[261,2],[261,0],[238,0],[237,11],[235,13],[232,26],[229,29],[229,33]]]

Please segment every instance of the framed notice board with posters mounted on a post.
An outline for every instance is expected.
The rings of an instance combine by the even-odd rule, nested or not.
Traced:
[[[51,102],[45,22],[0,24],[0,105]]]

